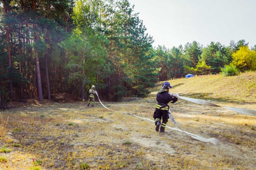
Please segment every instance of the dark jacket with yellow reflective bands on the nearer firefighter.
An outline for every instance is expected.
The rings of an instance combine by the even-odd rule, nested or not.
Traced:
[[[156,104],[156,109],[159,109],[159,110],[168,110],[168,103],[171,102],[171,103],[175,103],[176,101],[178,101],[178,98],[176,97],[172,97],[172,95],[168,92],[168,91],[164,91],[164,92],[158,92],[156,94],[156,101],[157,101],[157,104]],[[162,105],[166,105],[164,108],[160,109],[160,107]]]

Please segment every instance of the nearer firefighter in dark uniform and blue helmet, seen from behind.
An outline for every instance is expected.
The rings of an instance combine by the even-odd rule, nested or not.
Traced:
[[[164,128],[169,119],[169,113],[167,112],[167,110],[169,110],[168,103],[175,103],[178,101],[179,94],[170,94],[170,88],[172,88],[172,85],[169,82],[164,82],[162,88],[156,94],[157,104],[153,117],[155,118],[156,131],[159,131],[159,127],[161,125],[161,133],[164,133]],[[162,124],[161,119],[163,119]]]

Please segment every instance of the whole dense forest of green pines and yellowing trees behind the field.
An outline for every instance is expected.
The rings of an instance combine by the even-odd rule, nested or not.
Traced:
[[[193,41],[152,47],[153,37],[128,0],[1,0],[0,103],[144,97],[155,82],[188,73],[217,74],[226,65],[256,70],[256,45]]]

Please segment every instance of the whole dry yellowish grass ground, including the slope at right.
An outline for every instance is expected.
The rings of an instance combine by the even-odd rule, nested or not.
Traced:
[[[170,82],[180,96],[256,110],[255,72]],[[103,103],[153,120],[162,83],[145,99]],[[0,169],[255,169],[256,117],[185,100],[170,107],[184,130],[220,143],[167,128],[160,134],[154,123],[99,102],[26,105],[0,112]]]

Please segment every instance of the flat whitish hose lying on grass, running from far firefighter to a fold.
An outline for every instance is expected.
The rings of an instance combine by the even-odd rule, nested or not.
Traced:
[[[99,99],[99,101],[100,101],[100,98],[99,98],[98,93],[97,93],[96,91],[95,91],[95,93],[96,93],[96,95],[98,96],[98,99]],[[179,97],[181,97],[181,96],[179,96]],[[111,110],[111,109],[107,108],[106,106],[103,105],[103,103],[102,103],[101,101],[100,101],[100,104],[101,104],[103,107],[105,107],[106,109],[110,110],[110,111],[119,112],[119,111],[115,111],[115,110]],[[175,119],[174,119],[172,113],[170,112],[170,110],[169,110],[168,112],[169,112],[169,117],[170,117],[172,123],[173,123],[175,126],[177,126],[179,129],[171,128],[171,127],[169,127],[169,126],[165,126],[166,128],[173,129],[173,130],[178,130],[178,131],[180,131],[180,132],[184,132],[184,133],[186,133],[187,135],[189,135],[190,137],[193,137],[194,139],[199,140],[199,141],[201,141],[201,142],[210,142],[210,143],[213,143],[213,144],[218,144],[218,143],[219,143],[219,140],[216,139],[216,138],[209,138],[209,139],[206,139],[206,138],[204,138],[204,137],[200,137],[200,136],[198,136],[198,135],[195,135],[195,134],[192,134],[192,133],[189,133],[189,132],[186,132],[186,131],[182,130],[182,129],[180,128],[179,124],[175,121]],[[119,112],[119,113],[124,113],[124,114],[133,115],[132,113],[126,113],[126,112]],[[136,115],[133,115],[133,116],[138,117],[138,118],[140,118],[140,119],[145,119],[145,120],[148,120],[148,121],[150,121],[150,122],[154,122],[154,123],[155,123],[155,121],[150,120],[150,119],[148,119],[148,118],[144,118],[144,117],[140,117],[140,116],[136,116]]]

